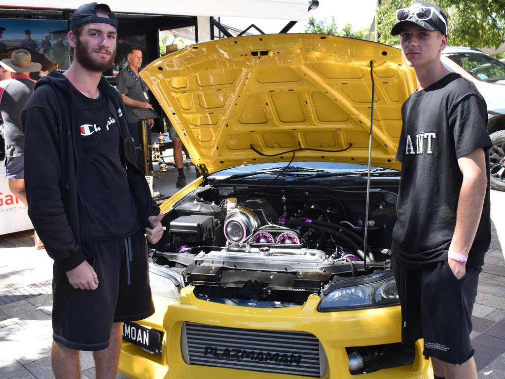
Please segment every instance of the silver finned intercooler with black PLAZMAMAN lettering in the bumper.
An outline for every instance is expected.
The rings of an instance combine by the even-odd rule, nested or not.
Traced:
[[[324,376],[319,340],[303,331],[255,330],[185,322],[181,351],[187,364]]]

